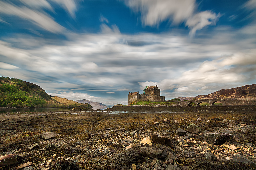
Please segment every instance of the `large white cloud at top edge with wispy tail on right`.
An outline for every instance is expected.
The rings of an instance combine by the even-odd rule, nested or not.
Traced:
[[[144,25],[158,26],[169,20],[174,24],[186,23],[193,36],[196,30],[217,22],[220,15],[211,11],[196,12],[195,0],[126,0],[126,5],[133,11],[140,11]]]

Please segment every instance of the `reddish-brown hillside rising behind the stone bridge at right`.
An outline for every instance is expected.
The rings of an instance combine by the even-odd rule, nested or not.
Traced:
[[[194,99],[223,99],[223,98],[256,98],[256,84],[242,87],[221,89],[208,95],[196,96]]]

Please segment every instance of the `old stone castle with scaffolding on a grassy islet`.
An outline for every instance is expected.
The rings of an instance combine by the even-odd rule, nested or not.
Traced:
[[[143,94],[139,92],[129,92],[128,95],[128,104],[131,104],[133,101],[165,101],[164,96],[160,96],[160,88],[155,86],[147,86],[143,90]]]

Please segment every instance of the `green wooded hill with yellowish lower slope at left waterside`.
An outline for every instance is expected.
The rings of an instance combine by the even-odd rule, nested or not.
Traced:
[[[66,99],[67,100],[67,99]],[[52,99],[40,86],[0,76],[0,107],[91,107],[74,101]]]

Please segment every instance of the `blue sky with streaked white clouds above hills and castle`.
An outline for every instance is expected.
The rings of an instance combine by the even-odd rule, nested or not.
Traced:
[[[0,0],[0,75],[106,105],[256,83],[256,0]]]

